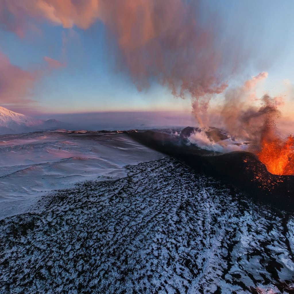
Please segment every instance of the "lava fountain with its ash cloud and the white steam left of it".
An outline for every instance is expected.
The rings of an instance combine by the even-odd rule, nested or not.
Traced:
[[[250,151],[265,164],[270,173],[294,175],[294,136],[283,138],[277,129],[283,105],[281,97],[264,95],[257,98],[255,87],[268,74],[262,72],[246,81],[243,86],[225,92],[221,110],[213,110],[218,116],[218,124],[228,132],[228,138],[220,140],[208,136],[209,128],[193,132],[189,141],[198,147],[218,152],[234,150]],[[200,101],[202,108],[208,109],[209,99]],[[199,101],[194,110],[199,112]]]

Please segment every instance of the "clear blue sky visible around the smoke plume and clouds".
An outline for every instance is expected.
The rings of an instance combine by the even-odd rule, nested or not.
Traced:
[[[283,91],[283,80],[294,81],[294,1],[210,0],[201,9],[204,18],[216,15],[220,20],[219,42],[232,40],[245,55],[238,72],[227,81],[229,86],[260,71],[269,73],[261,92],[276,94]],[[35,101],[27,108],[30,114],[190,110],[189,99],[174,98],[156,82],[138,91],[127,69],[117,69],[116,51],[112,52],[106,26],[99,19],[87,29],[65,28],[33,17],[31,22],[37,29],[27,29],[24,37],[0,29],[0,51],[11,64],[42,71],[28,94]],[[47,70],[44,56],[66,66]],[[20,101],[11,108],[21,105]]]

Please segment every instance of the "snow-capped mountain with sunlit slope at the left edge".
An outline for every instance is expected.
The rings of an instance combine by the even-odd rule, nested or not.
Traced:
[[[0,135],[45,131],[64,127],[64,123],[56,119],[44,121],[0,106]]]

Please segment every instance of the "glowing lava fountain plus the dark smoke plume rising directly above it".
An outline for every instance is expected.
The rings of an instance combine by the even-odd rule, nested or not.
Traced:
[[[282,138],[277,130],[281,97],[264,95],[258,99],[255,86],[267,73],[260,73],[243,87],[228,91],[221,119],[231,136],[251,142],[255,153],[270,173],[294,175],[294,137]],[[255,106],[253,106],[255,105]]]

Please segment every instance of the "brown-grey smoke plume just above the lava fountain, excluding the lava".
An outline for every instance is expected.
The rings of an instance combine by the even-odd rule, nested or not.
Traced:
[[[256,85],[267,76],[268,73],[262,72],[243,86],[226,91],[220,121],[234,138],[258,144],[265,135],[268,138],[276,136],[283,99],[268,95],[258,98],[255,93]]]

